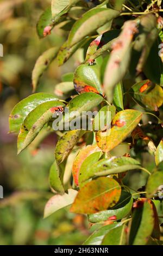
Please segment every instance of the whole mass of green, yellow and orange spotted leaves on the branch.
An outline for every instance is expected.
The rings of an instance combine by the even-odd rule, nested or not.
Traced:
[[[39,90],[40,77],[55,58],[63,65],[77,54],[78,65],[74,75],[68,70],[62,76],[54,94],[37,92],[18,102],[9,116],[10,132],[18,132],[18,154],[32,144],[37,150],[49,133],[58,135],[49,174],[54,195],[45,217],[68,205],[70,212],[87,214],[95,231],[85,245],[162,240],[161,2],[54,0],[37,23],[41,40],[53,36],[55,26],[67,38],[59,50],[52,45],[36,60],[33,91]],[[69,121],[95,109],[101,118],[102,108],[105,121],[109,110],[111,128],[54,131],[53,114],[65,112],[60,122],[65,125],[66,108]],[[136,184],[130,182],[134,174],[139,175]]]

